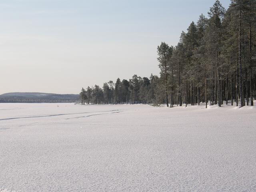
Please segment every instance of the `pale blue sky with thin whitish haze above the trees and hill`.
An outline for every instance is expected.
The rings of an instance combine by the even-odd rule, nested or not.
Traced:
[[[0,0],[0,94],[158,75],[156,47],[215,0]],[[230,0],[220,0],[227,8]]]

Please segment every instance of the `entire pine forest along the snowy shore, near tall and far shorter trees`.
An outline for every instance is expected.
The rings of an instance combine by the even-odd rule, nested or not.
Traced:
[[[157,47],[160,77],[134,75],[86,90],[82,104],[253,105],[256,93],[256,0],[218,0],[176,46]]]

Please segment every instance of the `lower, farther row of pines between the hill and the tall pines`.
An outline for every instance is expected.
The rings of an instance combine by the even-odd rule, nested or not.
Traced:
[[[141,78],[134,75],[132,79],[120,80],[116,83],[109,81],[104,83],[102,88],[98,85],[86,90],[82,88],[80,98],[82,104],[124,104],[124,103],[153,103],[155,99],[154,84],[156,84],[157,76]]]

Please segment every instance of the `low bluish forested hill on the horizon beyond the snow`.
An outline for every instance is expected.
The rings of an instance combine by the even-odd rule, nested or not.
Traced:
[[[14,92],[0,95],[0,103],[69,103],[78,100],[78,94]]]

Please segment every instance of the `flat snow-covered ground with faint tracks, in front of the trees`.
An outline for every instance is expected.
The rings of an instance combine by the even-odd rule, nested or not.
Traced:
[[[256,107],[0,104],[0,191],[256,191]]]

